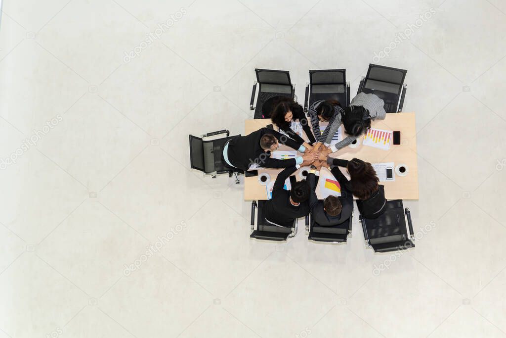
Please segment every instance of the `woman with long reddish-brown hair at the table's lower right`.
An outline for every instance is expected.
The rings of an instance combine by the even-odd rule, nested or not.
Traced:
[[[377,218],[385,210],[385,186],[379,184],[376,171],[368,162],[360,159],[351,161],[328,158],[327,164],[331,167],[345,167],[350,174],[349,189],[357,200],[358,210],[365,218]]]

